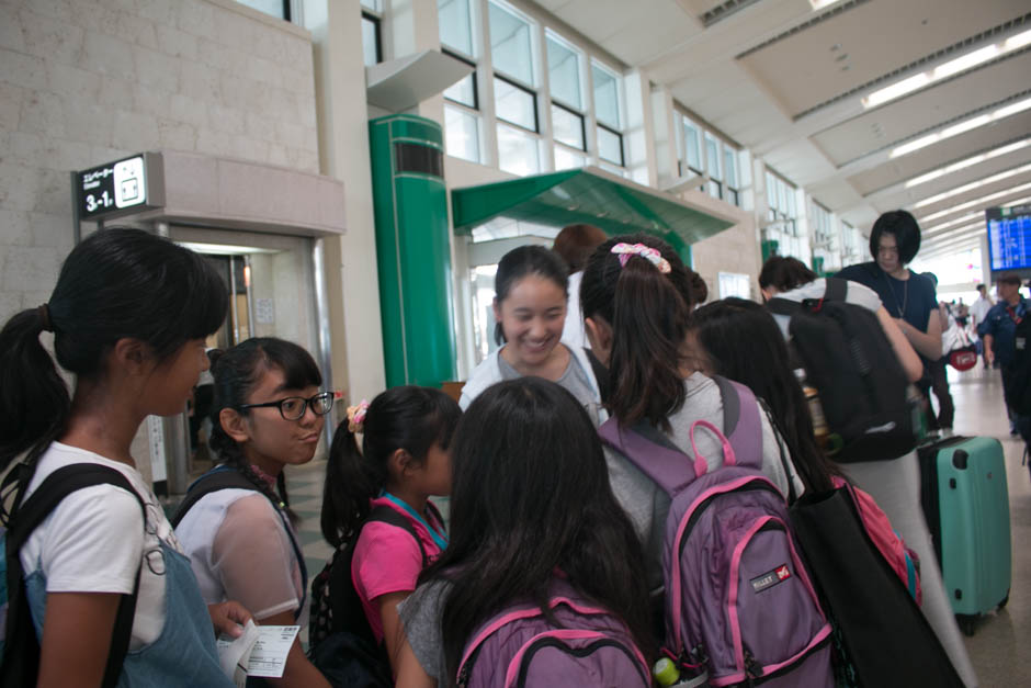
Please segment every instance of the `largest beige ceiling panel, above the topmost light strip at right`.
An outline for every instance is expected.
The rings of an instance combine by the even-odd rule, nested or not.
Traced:
[[[794,116],[1026,12],[1027,0],[865,2],[739,61]]]

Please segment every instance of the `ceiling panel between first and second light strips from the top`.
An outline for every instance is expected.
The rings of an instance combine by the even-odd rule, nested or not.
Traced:
[[[1031,88],[1031,52],[899,99],[816,134],[837,166]]]

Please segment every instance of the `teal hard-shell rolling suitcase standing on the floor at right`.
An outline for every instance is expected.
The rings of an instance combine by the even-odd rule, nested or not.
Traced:
[[[1009,490],[1002,445],[952,437],[919,449],[921,500],[960,627],[1009,600]]]

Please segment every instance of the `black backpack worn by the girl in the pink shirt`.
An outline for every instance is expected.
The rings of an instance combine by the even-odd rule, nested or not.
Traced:
[[[431,503],[438,520],[440,514]],[[429,560],[411,522],[386,505],[374,507],[351,539],[333,552],[326,566],[311,580],[311,622],[308,627],[308,657],[333,686],[386,688],[394,686],[386,645],[376,643],[362,600],[354,589],[351,565],[361,529],[378,521],[400,528],[419,545],[422,567]]]

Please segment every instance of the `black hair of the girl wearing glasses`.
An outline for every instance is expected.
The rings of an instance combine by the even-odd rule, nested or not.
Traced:
[[[304,347],[275,337],[254,337],[225,351],[209,351],[208,356],[212,359],[212,377],[215,380],[212,391],[212,437],[208,444],[224,463],[246,475],[273,504],[282,501],[291,520],[296,520],[296,516],[288,509],[286,476],[280,472],[276,478],[280,494],[276,495],[251,469],[243,450],[222,427],[218,415],[223,408],[233,408],[242,416],[249,414],[249,409],[240,406],[248,403],[250,393],[270,369],[282,371],[284,388],[287,390],[320,386],[322,373]]]

